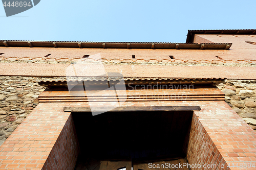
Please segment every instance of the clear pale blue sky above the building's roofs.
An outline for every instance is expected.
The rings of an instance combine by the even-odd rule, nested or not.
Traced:
[[[6,17],[2,40],[185,42],[187,30],[256,29],[256,1],[53,1]]]

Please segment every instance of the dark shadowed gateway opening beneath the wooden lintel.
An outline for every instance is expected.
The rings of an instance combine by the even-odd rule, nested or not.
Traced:
[[[72,112],[80,147],[75,170],[176,169],[187,163],[193,112],[151,109],[96,116]]]

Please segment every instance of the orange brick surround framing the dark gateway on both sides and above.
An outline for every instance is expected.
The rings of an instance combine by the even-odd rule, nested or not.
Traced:
[[[218,89],[215,90],[216,93],[222,93]],[[191,91],[193,91],[193,89],[191,89]],[[210,91],[212,91],[212,89],[210,89]],[[51,93],[51,95],[54,95],[53,93]],[[202,91],[199,93],[202,93]],[[47,94],[49,93],[45,93],[44,95],[46,96]],[[60,96],[61,92],[56,91],[56,94]],[[150,94],[151,91],[140,92],[140,95]],[[111,102],[105,103],[105,105],[110,104]],[[224,101],[159,102],[154,100],[148,102],[126,102],[122,107],[189,105],[201,107],[200,111],[194,112],[190,131],[187,152],[187,158],[190,164],[197,163],[203,165],[224,163],[225,168],[218,169],[227,169],[229,163],[256,163],[255,131],[252,130],[237,113],[232,111]],[[41,169],[43,166],[45,166],[45,168],[60,167],[61,162],[59,161],[61,160],[59,159],[54,163],[53,160],[51,160],[53,159],[51,154],[56,155],[55,152],[59,152],[59,156],[65,154],[65,152],[61,150],[62,147],[60,143],[67,142],[66,134],[70,134],[72,131],[68,130],[70,129],[68,127],[71,122],[70,113],[63,112],[62,110],[65,106],[88,107],[89,104],[77,102],[40,103],[0,147],[0,169]],[[63,127],[67,128],[63,129]],[[70,144],[67,145],[71,148]],[[75,154],[76,152],[71,153]],[[74,158],[75,155],[73,155],[73,159]],[[65,167],[64,164],[61,166],[63,168]]]

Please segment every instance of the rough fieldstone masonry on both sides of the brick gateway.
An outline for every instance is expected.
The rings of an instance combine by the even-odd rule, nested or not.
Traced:
[[[65,77],[0,76],[0,145],[38,104],[38,95],[45,90],[38,85],[41,80]],[[217,87],[225,93],[226,103],[256,130],[256,80],[226,80]]]

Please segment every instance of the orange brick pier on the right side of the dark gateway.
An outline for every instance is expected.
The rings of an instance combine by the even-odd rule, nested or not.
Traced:
[[[201,167],[215,164],[217,169],[255,169],[245,166],[256,165],[256,132],[224,101],[210,103],[199,102],[202,110],[195,111],[193,116],[187,152],[189,164],[197,163]],[[223,163],[225,168],[220,168]],[[244,168],[227,168],[240,163]]]

